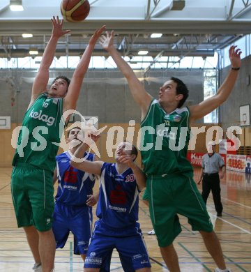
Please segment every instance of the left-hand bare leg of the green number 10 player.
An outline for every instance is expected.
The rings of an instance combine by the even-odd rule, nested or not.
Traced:
[[[31,252],[36,264],[41,264],[41,259],[38,251],[39,236],[38,231],[34,226],[24,227],[26,238],[31,248]]]

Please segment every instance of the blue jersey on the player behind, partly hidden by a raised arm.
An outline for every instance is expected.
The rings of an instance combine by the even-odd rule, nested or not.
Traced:
[[[94,159],[91,153],[84,153],[84,157],[86,160]],[[95,176],[72,167],[70,158],[68,151],[56,156],[59,187],[55,199],[63,204],[85,206],[87,195],[93,194]]]

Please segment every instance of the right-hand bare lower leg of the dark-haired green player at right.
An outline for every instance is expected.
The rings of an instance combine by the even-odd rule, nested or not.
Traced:
[[[215,264],[219,269],[226,269],[225,260],[222,253],[222,248],[215,232],[202,232],[200,231],[206,248],[210,255],[213,257]]]

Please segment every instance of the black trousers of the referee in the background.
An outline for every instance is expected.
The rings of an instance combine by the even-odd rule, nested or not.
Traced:
[[[201,196],[204,199],[205,203],[211,190],[213,194],[215,210],[217,211],[217,213],[222,213],[223,206],[220,199],[220,176],[218,173],[211,175],[204,174],[203,176]]]

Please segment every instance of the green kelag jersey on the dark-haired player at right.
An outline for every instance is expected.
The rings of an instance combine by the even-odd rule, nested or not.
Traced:
[[[167,114],[158,100],[153,100],[141,123],[141,154],[144,172],[150,175],[183,173],[192,176],[186,158],[190,112],[188,107]]]

